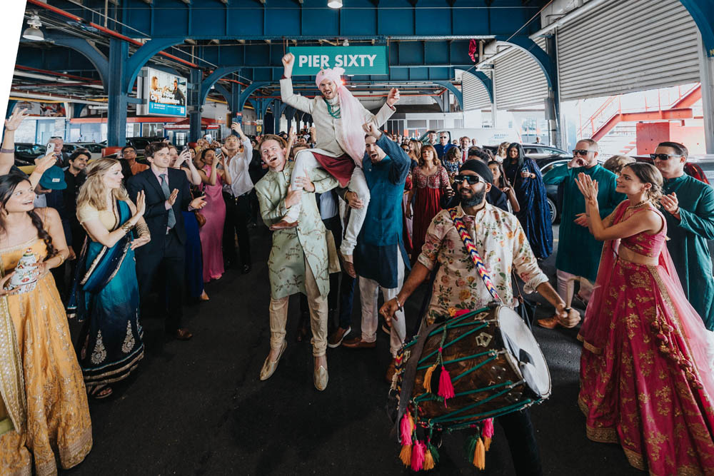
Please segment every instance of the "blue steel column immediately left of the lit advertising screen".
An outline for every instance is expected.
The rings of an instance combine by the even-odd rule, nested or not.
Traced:
[[[109,111],[107,114],[106,143],[108,146],[126,144],[127,93],[122,88],[129,60],[129,44],[118,39],[109,39]]]

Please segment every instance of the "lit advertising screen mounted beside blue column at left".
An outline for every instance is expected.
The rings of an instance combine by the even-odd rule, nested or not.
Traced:
[[[139,116],[186,117],[186,78],[158,69],[141,69],[139,91],[143,104],[139,104]]]

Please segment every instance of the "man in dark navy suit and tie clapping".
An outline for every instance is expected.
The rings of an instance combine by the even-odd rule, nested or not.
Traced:
[[[181,211],[203,208],[203,197],[191,199],[186,173],[169,168],[169,144],[152,142],[145,155],[151,167],[129,178],[126,188],[131,196],[144,191],[146,212],[144,221],[151,231],[151,241],[136,249],[136,278],[139,280],[141,303],[151,292],[158,275],[159,303],[165,306],[166,333],[178,340],[188,340],[193,334],[181,326],[183,315],[183,260],[186,255],[186,228]],[[178,290],[178,293],[175,291]],[[167,292],[172,295],[168,295]]]

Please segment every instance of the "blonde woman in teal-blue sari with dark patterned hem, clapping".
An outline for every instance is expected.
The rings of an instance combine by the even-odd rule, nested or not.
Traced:
[[[77,218],[87,239],[69,313],[83,323],[76,348],[87,392],[94,398],[109,397],[109,384],[127,378],[144,358],[134,250],[151,236],[142,218],[144,193],[134,205],[122,178],[119,161],[101,158],[89,166],[77,198]]]

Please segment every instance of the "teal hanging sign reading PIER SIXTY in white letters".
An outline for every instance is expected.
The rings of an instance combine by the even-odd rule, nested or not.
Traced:
[[[315,76],[321,69],[341,67],[345,74],[389,74],[386,46],[292,46],[294,75]]]

